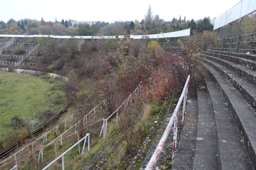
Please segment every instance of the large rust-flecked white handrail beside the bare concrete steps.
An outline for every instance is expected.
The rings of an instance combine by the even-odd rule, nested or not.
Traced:
[[[186,114],[186,102],[187,102],[187,94],[188,94],[188,88],[189,88],[189,79],[190,79],[190,75],[188,76],[188,78],[186,80],[183,91],[180,95],[180,99],[176,105],[174,112],[172,113],[172,117],[163,133],[163,136],[161,137],[159,143],[157,144],[157,148],[154,150],[154,153],[151,156],[151,159],[149,160],[145,170],[153,170],[154,169],[157,159],[163,149],[163,146],[166,142],[166,139],[169,136],[169,133],[170,133],[173,125],[174,125],[174,132],[173,132],[173,146],[172,146],[172,162],[174,160],[175,153],[176,153],[176,147],[177,147],[178,112],[179,112],[181,103],[183,102],[182,122],[184,122],[184,116]]]

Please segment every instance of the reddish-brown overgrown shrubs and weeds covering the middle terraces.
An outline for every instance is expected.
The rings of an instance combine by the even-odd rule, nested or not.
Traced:
[[[67,122],[67,125],[61,124],[58,129],[53,130],[48,139],[53,140],[66,129],[75,125],[76,122],[82,120],[76,124],[75,128],[76,131],[79,131],[79,139],[84,137],[86,133],[90,133],[92,151],[85,156],[77,156],[78,149],[74,149],[65,156],[65,159],[75,159],[77,163],[70,162],[69,165],[66,165],[67,167],[79,167],[82,162],[87,161],[88,158],[92,159],[91,156],[98,154],[97,152],[102,149],[101,145],[104,143],[101,142],[102,137],[99,138],[102,127],[101,119],[107,118],[113,113],[141,84],[143,87],[139,94],[130,99],[129,103],[131,104],[125,109],[119,110],[118,121],[116,122],[116,117],[113,117],[109,119],[108,124],[108,142],[111,147],[115,148],[110,153],[111,156],[115,155],[114,158],[111,157],[113,163],[111,163],[111,167],[128,166],[127,160],[134,156],[137,146],[142,144],[151,123],[154,122],[153,120],[159,113],[161,106],[158,104],[162,104],[166,97],[172,99],[180,94],[187,75],[193,74],[196,77],[195,71],[200,69],[197,61],[197,57],[200,56],[199,42],[195,36],[190,38],[187,46],[181,44],[183,54],[180,56],[166,55],[158,45],[158,40],[151,41],[149,39],[143,40],[143,43],[128,39],[95,39],[86,41],[82,45],[78,45],[75,39],[70,39],[67,40],[67,48],[57,46],[57,42],[51,38],[38,38],[37,41],[40,41],[41,44],[38,54],[65,57],[60,68],[56,65],[55,73],[62,71],[62,68],[76,68],[76,70],[71,69],[62,74],[69,78],[65,85],[66,97],[74,105],[77,111],[76,116]],[[52,45],[47,46],[48,42]],[[50,69],[53,70],[53,68]],[[50,85],[56,83],[55,79],[48,79],[47,81],[49,84],[51,83]],[[50,88],[47,95],[50,96],[56,88],[57,86]],[[84,116],[101,102],[102,105],[97,108],[96,115],[94,116],[92,112],[84,119]],[[53,105],[59,103],[61,103],[59,97],[51,101]],[[52,111],[44,108],[35,117],[41,119],[41,122],[45,122],[50,116],[52,116]],[[98,120],[99,122],[87,127]],[[23,122],[24,120],[20,118],[13,118],[13,125],[17,125],[18,129],[23,126]],[[84,129],[84,127],[87,128]],[[72,133],[74,132],[68,132],[64,136]],[[20,134],[26,136],[27,133]],[[62,137],[64,138],[64,136]],[[74,144],[77,137],[70,136],[65,140],[63,146],[58,144],[58,154]],[[116,145],[111,141],[115,141],[119,146],[115,147]],[[37,144],[34,147],[40,148],[42,145],[44,144]],[[46,160],[44,163],[37,164],[37,168],[44,167],[47,161],[54,158],[54,145],[45,150],[47,150],[44,151]],[[116,154],[117,152],[119,154]],[[38,151],[36,156],[38,156]],[[107,157],[105,160],[108,160]],[[34,167],[34,164],[28,163],[33,162],[31,160],[20,162],[25,162],[20,169],[26,169],[27,166]],[[58,169],[58,165],[55,164],[52,168]],[[106,168],[108,169],[108,167]]]

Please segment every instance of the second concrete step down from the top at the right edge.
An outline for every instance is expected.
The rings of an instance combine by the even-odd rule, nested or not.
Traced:
[[[256,60],[254,59],[247,59],[239,56],[231,56],[227,54],[211,53],[211,52],[205,52],[205,54],[213,57],[218,57],[221,59],[226,59],[232,62],[236,62],[240,65],[243,65],[246,68],[250,68],[251,70],[256,70]]]

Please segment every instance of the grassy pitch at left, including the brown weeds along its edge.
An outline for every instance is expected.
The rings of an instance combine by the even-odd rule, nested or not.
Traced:
[[[66,104],[64,82],[48,77],[1,72],[1,149],[24,139]]]

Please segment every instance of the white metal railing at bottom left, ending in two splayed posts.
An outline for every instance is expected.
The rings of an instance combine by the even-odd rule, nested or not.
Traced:
[[[73,149],[76,145],[78,145],[80,142],[84,141],[84,145],[83,145],[83,149],[82,149],[82,155],[84,153],[84,147],[86,144],[86,139],[88,137],[88,152],[90,151],[90,133],[87,133],[82,139],[80,139],[78,142],[76,142],[76,144],[74,144],[72,147],[70,147],[68,150],[66,150],[64,153],[62,153],[60,156],[58,156],[58,158],[54,159],[51,163],[49,163],[46,167],[44,167],[42,170],[46,170],[48,167],[50,167],[52,164],[54,164],[56,161],[58,161],[59,159],[62,159],[62,170],[65,170],[65,161],[64,161],[64,155],[70,151],[71,149]]]

